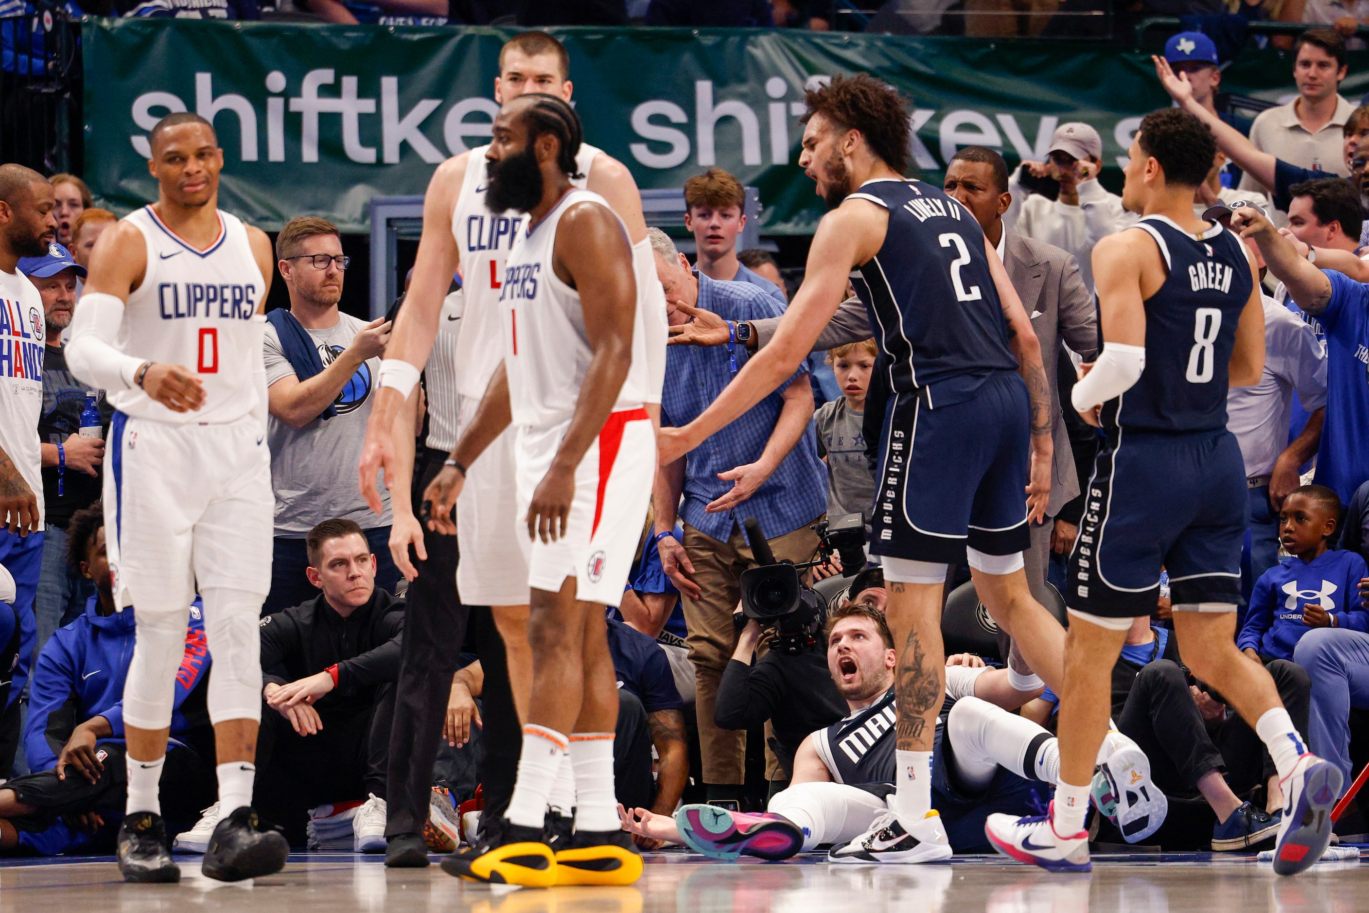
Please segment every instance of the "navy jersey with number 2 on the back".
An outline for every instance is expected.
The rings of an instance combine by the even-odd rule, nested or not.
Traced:
[[[969,211],[921,181],[867,181],[852,197],[888,209],[883,246],[852,279],[890,356],[890,386],[925,389],[936,408],[968,398],[994,371],[1016,371],[984,233]]]

